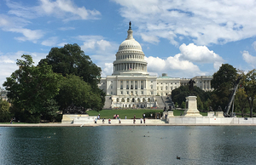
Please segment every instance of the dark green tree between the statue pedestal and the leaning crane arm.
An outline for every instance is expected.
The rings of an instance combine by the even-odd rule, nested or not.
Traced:
[[[219,70],[213,74],[211,81],[212,88],[212,108],[218,110],[218,105],[224,110],[230,100],[230,94],[236,83],[237,71],[232,65],[223,64]]]

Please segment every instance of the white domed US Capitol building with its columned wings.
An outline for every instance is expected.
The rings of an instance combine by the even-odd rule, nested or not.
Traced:
[[[99,88],[106,93],[104,108],[144,108],[166,106],[168,95],[172,90],[187,85],[191,78],[149,76],[147,61],[140,43],[132,36],[131,22],[127,38],[119,46],[113,61],[112,76],[102,77]],[[195,86],[209,91],[212,77],[197,76],[192,78]]]

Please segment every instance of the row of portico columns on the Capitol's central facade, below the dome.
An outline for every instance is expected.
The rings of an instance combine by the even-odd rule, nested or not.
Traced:
[[[121,81],[123,83],[121,83]],[[137,81],[137,84],[135,83],[135,81]],[[132,85],[133,89],[135,89],[135,85],[137,85],[137,89],[142,89],[141,87],[143,87],[143,89],[146,88],[146,81],[145,80],[118,80],[118,82],[117,82],[118,83],[118,89],[121,88],[121,85],[123,85],[123,89],[126,89],[127,82],[128,82],[128,85],[129,85],[129,89],[131,89],[131,85]]]

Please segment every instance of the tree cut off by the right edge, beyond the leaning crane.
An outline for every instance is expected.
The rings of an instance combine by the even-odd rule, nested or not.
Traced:
[[[242,86],[247,94],[247,102],[250,107],[250,117],[253,117],[253,101],[256,98],[256,70],[248,71],[243,74]]]

